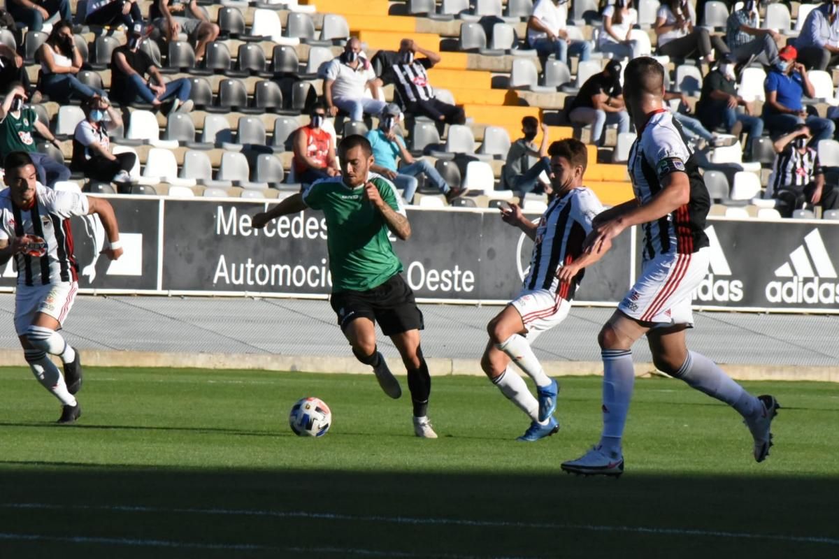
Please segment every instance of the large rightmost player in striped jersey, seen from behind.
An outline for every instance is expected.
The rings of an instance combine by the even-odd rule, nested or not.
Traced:
[[[779,408],[774,397],[752,396],[685,344],[685,330],[693,326],[691,293],[708,269],[705,220],[710,200],[696,158],[663,96],[664,68],[649,57],[630,61],[623,97],[638,131],[628,164],[636,198],[597,216],[586,251],[596,260],[623,230],[641,225],[642,272],[598,336],[603,358],[602,437],[581,458],[562,464],[574,474],[623,472],[621,438],[635,380],[631,348],[644,334],[656,368],[743,416],[754,438],[755,460],[762,462],[772,446],[770,427]],[[591,265],[591,260],[585,264]],[[576,262],[564,267],[560,279],[571,280],[577,268]]]

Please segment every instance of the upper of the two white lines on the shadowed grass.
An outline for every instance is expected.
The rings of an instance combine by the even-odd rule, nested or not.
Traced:
[[[463,520],[456,518],[419,518],[411,516],[343,515],[337,513],[305,512],[302,510],[232,510],[232,509],[182,509],[133,505],[50,505],[45,503],[0,503],[5,509],[30,510],[107,510],[108,512],[175,513],[190,515],[263,516],[269,518],[305,518],[350,522],[384,522],[403,525],[451,525],[477,526],[482,528],[524,528],[566,531],[622,532],[650,534],[656,536],[701,536],[731,538],[736,540],[789,541],[839,546],[839,538],[827,536],[793,536],[788,534],[758,534],[754,532],[732,532],[700,530],[695,528],[664,528],[659,526],[592,525],[565,522],[512,522],[507,520]]]

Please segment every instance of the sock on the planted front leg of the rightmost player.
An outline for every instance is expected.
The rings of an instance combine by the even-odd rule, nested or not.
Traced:
[[[635,366],[629,349],[603,349],[603,432],[600,445],[621,452],[623,427],[635,384]]]

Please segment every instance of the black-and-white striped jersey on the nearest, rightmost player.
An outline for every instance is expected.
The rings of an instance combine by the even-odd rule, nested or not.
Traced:
[[[649,116],[629,151],[629,177],[638,202],[649,204],[663,188],[664,178],[674,172],[687,173],[690,200],[673,213],[641,225],[645,260],[661,254],[690,254],[708,246],[708,189],[680,124],[674,122],[670,111],[661,109]]]

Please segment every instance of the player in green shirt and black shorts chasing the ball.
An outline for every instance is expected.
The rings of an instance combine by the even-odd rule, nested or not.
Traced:
[[[373,149],[367,138],[345,137],[338,153],[341,176],[317,180],[302,194],[289,196],[268,212],[254,215],[253,226],[264,227],[281,215],[306,208],[323,211],[332,275],[331,305],[352,353],[364,365],[373,367],[385,394],[402,396],[399,380],[376,347],[378,321],[382,333],[399,349],[408,370],[414,433],[436,438],[428,419],[431,377],[420,349],[423,316],[414,302],[414,292],[399,273],[402,262],[388,240],[388,230],[402,241],[411,235],[402,199],[393,183],[369,170]]]

